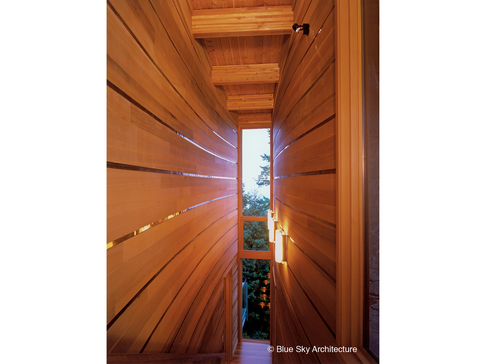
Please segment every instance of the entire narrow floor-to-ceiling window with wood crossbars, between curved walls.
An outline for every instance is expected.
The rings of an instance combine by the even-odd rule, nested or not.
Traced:
[[[270,339],[270,129],[241,131],[241,337]]]

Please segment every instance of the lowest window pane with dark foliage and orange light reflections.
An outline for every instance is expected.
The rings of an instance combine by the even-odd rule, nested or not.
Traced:
[[[270,260],[243,258],[242,267],[243,337],[270,340]]]

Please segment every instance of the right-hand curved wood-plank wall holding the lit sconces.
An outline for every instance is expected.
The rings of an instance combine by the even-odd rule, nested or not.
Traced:
[[[310,33],[283,45],[273,113],[273,202],[288,234],[275,264],[275,345],[336,345],[336,71],[333,0],[297,0]],[[278,363],[338,363],[334,353],[278,353]]]

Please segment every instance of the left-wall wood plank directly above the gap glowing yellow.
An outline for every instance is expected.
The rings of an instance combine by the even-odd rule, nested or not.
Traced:
[[[106,242],[212,199],[236,194],[236,180],[106,169]]]

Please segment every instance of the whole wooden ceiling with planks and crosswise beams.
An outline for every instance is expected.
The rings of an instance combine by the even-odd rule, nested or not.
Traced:
[[[271,120],[280,53],[292,32],[292,0],[190,2],[194,37],[208,52],[213,82],[226,92],[228,110],[245,119],[265,113]]]

